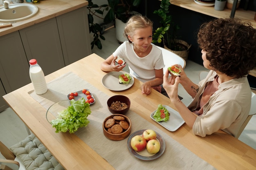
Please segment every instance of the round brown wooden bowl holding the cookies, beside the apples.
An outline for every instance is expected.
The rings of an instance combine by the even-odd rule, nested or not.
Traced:
[[[123,132],[119,133],[119,134],[113,134],[111,132],[108,132],[108,129],[105,128],[104,124],[105,122],[110,119],[113,118],[114,116],[122,116],[125,118],[125,121],[129,124],[129,128],[127,130],[123,130]],[[112,141],[121,141],[123,139],[125,139],[126,137],[128,137],[130,135],[131,129],[132,129],[132,124],[130,119],[125,116],[125,115],[121,115],[121,114],[113,114],[109,117],[107,117],[102,124],[102,128],[103,128],[103,134],[105,135],[106,138],[112,140]]]

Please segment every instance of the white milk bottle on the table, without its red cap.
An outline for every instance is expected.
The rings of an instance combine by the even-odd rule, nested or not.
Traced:
[[[47,92],[47,85],[45,82],[45,75],[38,64],[31,65],[29,68],[29,77],[34,86],[36,94],[42,95]]]

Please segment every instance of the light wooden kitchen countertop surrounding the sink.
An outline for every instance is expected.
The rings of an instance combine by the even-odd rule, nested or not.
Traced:
[[[23,3],[31,3],[24,2]],[[18,31],[20,29],[26,28],[28,26],[37,24],[39,22],[43,22],[45,20],[49,20],[58,15],[62,15],[64,13],[74,11],[75,9],[79,9],[81,7],[85,7],[88,5],[88,1],[86,0],[43,0],[40,1],[39,4],[35,4],[38,7],[38,13],[33,17],[18,21],[13,23],[12,26],[1,28],[0,36],[12,33],[14,31]],[[2,24],[4,22],[0,22]]]

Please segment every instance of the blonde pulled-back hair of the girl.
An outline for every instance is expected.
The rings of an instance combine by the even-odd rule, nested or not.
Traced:
[[[146,16],[142,16],[140,14],[132,15],[126,22],[126,27],[124,28],[124,35],[126,36],[128,41],[132,43],[129,40],[128,35],[132,37],[135,34],[136,29],[147,28],[148,26],[153,29],[153,22]]]

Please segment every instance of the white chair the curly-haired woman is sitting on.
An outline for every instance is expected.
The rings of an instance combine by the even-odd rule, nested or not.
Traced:
[[[208,73],[209,73],[208,71],[201,71],[199,74],[200,81],[202,79],[204,79]],[[243,125],[240,127],[238,134],[236,135],[237,139],[241,135],[241,133],[245,129],[245,126],[248,124],[248,122],[250,121],[250,119],[252,118],[253,115],[256,115],[256,95],[255,95],[255,93],[252,92],[252,104],[251,104],[250,112],[249,112],[248,117],[245,119]]]

